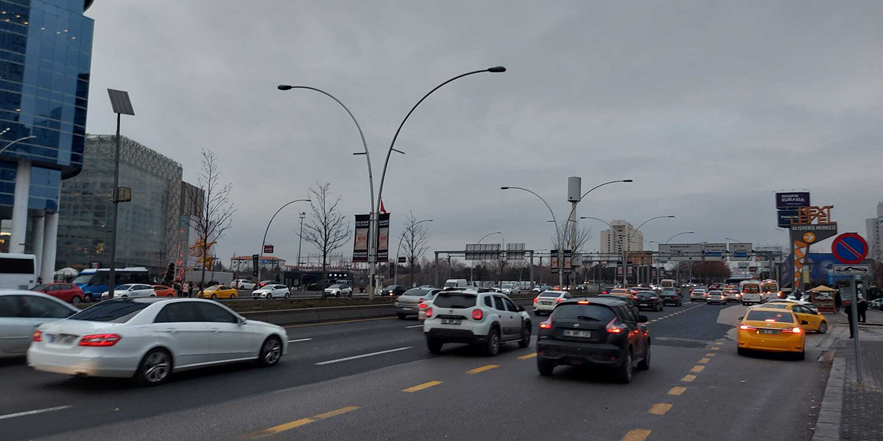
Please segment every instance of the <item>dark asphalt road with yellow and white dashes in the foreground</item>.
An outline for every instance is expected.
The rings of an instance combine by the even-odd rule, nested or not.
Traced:
[[[494,358],[463,345],[431,355],[419,322],[396,318],[289,327],[275,368],[190,371],[153,388],[7,361],[0,438],[809,439],[826,377],[812,347],[821,336],[808,335],[801,362],[738,356],[730,323],[743,310],[644,312],[652,366],[630,385],[585,368],[540,377],[533,344]]]

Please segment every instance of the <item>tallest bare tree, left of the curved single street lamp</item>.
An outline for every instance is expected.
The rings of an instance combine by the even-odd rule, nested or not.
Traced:
[[[233,213],[236,213],[236,207],[230,202],[233,184],[221,183],[219,177],[217,155],[203,148],[197,184],[195,187],[188,187],[191,193],[189,202],[193,208],[192,227],[202,251],[200,288],[205,288],[206,284],[206,267],[211,260],[208,251],[230,228]]]

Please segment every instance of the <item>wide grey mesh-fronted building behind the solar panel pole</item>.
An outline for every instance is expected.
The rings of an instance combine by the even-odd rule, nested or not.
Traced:
[[[83,169],[61,189],[58,265],[110,265],[116,137],[89,135]],[[117,267],[145,266],[162,274],[177,258],[181,229],[181,165],[130,138],[121,138],[119,185],[132,201],[119,203]]]

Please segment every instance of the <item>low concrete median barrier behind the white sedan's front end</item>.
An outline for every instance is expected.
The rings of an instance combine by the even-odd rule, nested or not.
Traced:
[[[513,299],[518,306],[529,306],[533,299]],[[324,308],[302,308],[294,310],[260,310],[240,312],[242,317],[260,320],[274,325],[300,325],[362,318],[396,317],[396,310],[390,304],[369,304],[358,306],[328,306]]]

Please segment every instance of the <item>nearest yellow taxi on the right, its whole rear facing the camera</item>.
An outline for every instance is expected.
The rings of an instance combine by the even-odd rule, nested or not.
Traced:
[[[739,355],[749,351],[785,352],[804,359],[806,333],[792,310],[754,307],[741,319],[736,330]]]

